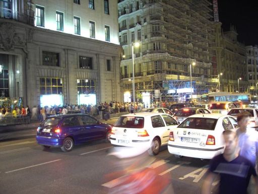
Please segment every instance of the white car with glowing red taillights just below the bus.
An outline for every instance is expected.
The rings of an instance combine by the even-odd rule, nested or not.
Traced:
[[[211,104],[209,110],[211,110],[212,113],[226,115],[233,108],[237,108],[233,102],[216,102]]]

